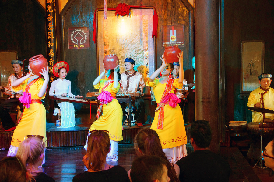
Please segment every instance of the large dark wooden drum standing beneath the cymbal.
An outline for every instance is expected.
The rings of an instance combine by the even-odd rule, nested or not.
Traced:
[[[250,159],[258,160],[261,157],[261,123],[250,122],[247,124],[248,136],[250,137],[251,144],[247,153]],[[264,124],[265,126],[265,124]],[[263,128],[262,132],[262,148],[273,139],[274,127],[268,126]]]

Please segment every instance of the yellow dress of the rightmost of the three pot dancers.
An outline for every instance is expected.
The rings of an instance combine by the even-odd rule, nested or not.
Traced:
[[[149,80],[146,82],[146,86],[151,86],[153,88],[157,103],[160,103],[166,85],[167,83],[160,83],[158,78],[156,78],[154,82],[149,82]],[[182,84],[178,83],[178,79],[174,80],[170,93],[174,93],[175,88],[182,88]],[[163,107],[163,129],[157,129],[160,110],[155,111],[154,120],[151,125],[151,129],[158,133],[163,149],[187,144],[184,119],[180,106],[177,104],[176,107],[171,107],[170,105],[165,105]]]

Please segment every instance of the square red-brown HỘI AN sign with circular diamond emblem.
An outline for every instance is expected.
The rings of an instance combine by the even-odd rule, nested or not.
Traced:
[[[89,47],[89,27],[68,28],[68,49],[88,49]]]

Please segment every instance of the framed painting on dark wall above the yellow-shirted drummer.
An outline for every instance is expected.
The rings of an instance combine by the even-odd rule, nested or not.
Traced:
[[[264,72],[265,42],[243,41],[241,46],[241,92],[250,93],[260,87],[258,76]]]

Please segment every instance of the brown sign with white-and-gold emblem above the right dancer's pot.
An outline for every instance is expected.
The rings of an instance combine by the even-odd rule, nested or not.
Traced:
[[[162,25],[162,47],[184,47],[184,25]]]

